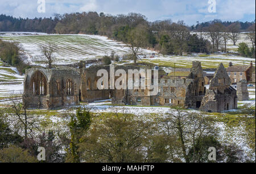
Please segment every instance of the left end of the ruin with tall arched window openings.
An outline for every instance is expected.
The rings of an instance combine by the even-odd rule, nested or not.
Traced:
[[[46,93],[36,93],[35,88],[42,88],[35,82],[38,74],[46,78]],[[42,78],[42,77],[40,77]],[[69,85],[68,85],[69,81]],[[53,109],[61,106],[79,104],[80,74],[75,68],[31,68],[24,78],[23,97],[29,101],[28,107]]]

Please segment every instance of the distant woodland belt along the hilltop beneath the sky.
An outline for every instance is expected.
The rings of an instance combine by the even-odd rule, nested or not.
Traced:
[[[146,16],[130,13],[128,15],[109,15],[104,13],[72,13],[54,18],[23,19],[0,15],[0,31],[46,32],[48,34],[91,34],[105,35],[110,39],[122,41],[134,47],[152,48],[167,55],[216,51],[226,52],[228,40],[234,45],[242,31],[249,31],[248,39],[253,48],[247,49],[246,56],[255,57],[254,22],[197,22],[187,26],[183,21],[157,20],[148,22]],[[210,40],[191,31],[207,32]],[[246,47],[246,45],[245,45]]]

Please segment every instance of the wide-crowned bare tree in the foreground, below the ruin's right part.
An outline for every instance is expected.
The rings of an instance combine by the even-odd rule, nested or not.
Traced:
[[[211,121],[203,114],[188,113],[181,108],[176,108],[167,114],[163,119],[163,129],[167,130],[168,135],[171,131],[177,136],[181,144],[181,151],[186,163],[196,162],[196,140],[204,140],[209,135],[216,135],[216,129]],[[193,158],[189,158],[188,149],[193,149]]]

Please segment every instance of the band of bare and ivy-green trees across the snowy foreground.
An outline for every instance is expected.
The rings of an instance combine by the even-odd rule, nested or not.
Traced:
[[[175,107],[148,119],[148,115],[127,114],[125,109],[96,114],[80,107],[75,113],[67,110],[63,122],[53,124],[49,118],[40,119],[42,113],[28,110],[28,102],[13,99],[10,107],[1,109],[0,162],[39,162],[38,147],[46,149],[46,160],[40,161],[44,163],[251,161],[236,144],[218,140],[216,120],[204,113]],[[248,116],[241,122],[255,153],[255,106],[240,111]],[[47,128],[51,124],[55,127]],[[209,147],[216,148],[216,161],[209,160]]]

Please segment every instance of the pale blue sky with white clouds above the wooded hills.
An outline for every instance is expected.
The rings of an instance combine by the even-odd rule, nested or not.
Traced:
[[[43,4],[45,2],[45,11]],[[38,10],[39,9],[39,10]],[[0,0],[0,14],[50,17],[54,14],[97,11],[105,14],[140,13],[149,21],[184,20],[188,25],[213,19],[255,20],[254,0]]]

